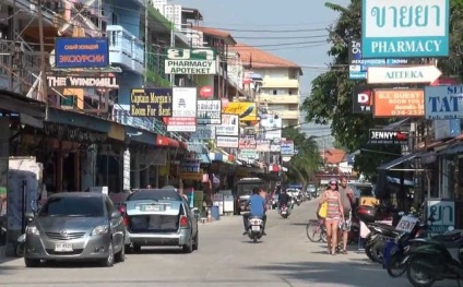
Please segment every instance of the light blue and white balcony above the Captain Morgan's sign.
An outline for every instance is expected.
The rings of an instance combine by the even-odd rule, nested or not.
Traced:
[[[139,74],[144,72],[144,45],[119,25],[106,28],[109,38],[109,61]]]

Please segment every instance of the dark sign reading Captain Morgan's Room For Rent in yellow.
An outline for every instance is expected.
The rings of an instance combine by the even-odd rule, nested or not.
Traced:
[[[171,117],[173,89],[133,88],[130,92],[130,116],[132,117]]]

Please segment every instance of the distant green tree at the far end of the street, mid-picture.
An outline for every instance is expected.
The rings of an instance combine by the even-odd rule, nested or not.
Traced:
[[[305,133],[294,128],[283,129],[283,137],[293,140],[298,152],[285,164],[288,168],[286,177],[289,181],[307,186],[322,165],[318,143],[313,136],[307,137]]]

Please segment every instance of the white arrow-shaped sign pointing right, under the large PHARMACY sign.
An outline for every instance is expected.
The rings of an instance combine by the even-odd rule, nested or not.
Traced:
[[[368,84],[432,83],[442,72],[435,65],[368,67]]]

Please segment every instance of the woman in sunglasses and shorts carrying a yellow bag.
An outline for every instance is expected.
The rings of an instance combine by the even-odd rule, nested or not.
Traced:
[[[337,246],[337,228],[340,222],[344,222],[344,211],[341,203],[341,195],[337,191],[337,180],[330,179],[329,188],[323,192],[320,204],[328,203],[327,218],[324,226],[327,228],[328,253],[334,255]]]

